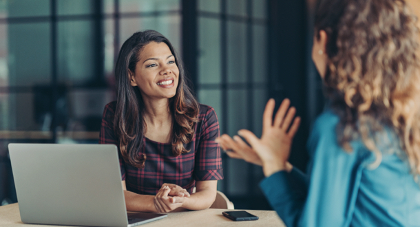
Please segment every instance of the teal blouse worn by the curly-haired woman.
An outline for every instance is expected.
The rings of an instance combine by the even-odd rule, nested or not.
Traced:
[[[392,133],[379,135],[376,156],[361,141],[337,143],[338,116],[325,111],[308,139],[308,175],[293,168],[260,183],[286,226],[420,226],[420,186]]]

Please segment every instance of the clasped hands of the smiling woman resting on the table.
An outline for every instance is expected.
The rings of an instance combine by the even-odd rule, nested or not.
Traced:
[[[190,194],[184,188],[176,184],[162,184],[154,197],[154,206],[158,213],[168,213],[182,207]]]

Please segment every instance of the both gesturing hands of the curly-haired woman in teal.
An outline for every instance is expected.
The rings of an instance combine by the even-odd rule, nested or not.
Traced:
[[[262,119],[262,136],[258,138],[249,130],[242,129],[239,136],[233,140],[227,134],[216,139],[222,149],[231,158],[240,158],[246,162],[262,166],[264,175],[269,176],[277,171],[291,171],[293,166],[288,163],[293,137],[300,125],[300,117],[295,118],[296,109],[290,107],[290,100],[283,100],[273,120],[275,101],[270,99],[266,104]],[[294,118],[294,120],[293,120]]]

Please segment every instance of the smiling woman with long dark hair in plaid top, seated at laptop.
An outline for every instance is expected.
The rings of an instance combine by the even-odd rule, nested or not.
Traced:
[[[118,147],[127,210],[209,208],[223,178],[218,119],[194,98],[174,47],[154,30],[136,32],[115,76],[117,100],[105,107],[99,142]]]

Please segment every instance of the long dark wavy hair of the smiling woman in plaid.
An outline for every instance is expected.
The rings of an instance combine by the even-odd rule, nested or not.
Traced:
[[[114,130],[118,134],[119,149],[125,162],[143,168],[146,155],[141,153],[146,130],[145,105],[138,87],[129,83],[129,72],[136,72],[136,64],[140,60],[140,52],[150,42],[166,43],[175,57],[179,69],[179,81],[176,95],[169,98],[169,111],[174,122],[172,124],[172,152],[175,156],[189,152],[184,144],[191,142],[194,127],[198,120],[199,106],[191,90],[191,81],[185,73],[184,66],[169,40],[159,32],[145,30],[134,33],[124,42],[118,54],[115,67],[116,77],[116,112]]]

